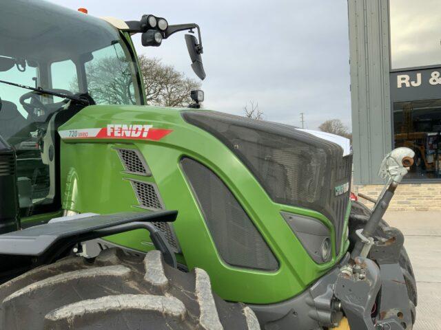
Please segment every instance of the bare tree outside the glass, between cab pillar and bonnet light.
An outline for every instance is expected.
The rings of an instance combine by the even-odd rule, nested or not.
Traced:
[[[158,58],[139,56],[147,104],[165,107],[186,107],[192,102],[190,92],[201,89],[201,83],[163,65]]]

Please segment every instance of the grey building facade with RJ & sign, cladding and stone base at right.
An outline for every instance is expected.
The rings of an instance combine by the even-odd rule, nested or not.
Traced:
[[[348,0],[353,184],[376,197],[378,168],[415,151],[392,210],[441,210],[441,1]]]

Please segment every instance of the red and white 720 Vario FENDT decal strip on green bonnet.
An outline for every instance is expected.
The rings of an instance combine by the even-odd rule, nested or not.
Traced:
[[[72,139],[129,139],[129,140],[161,140],[171,133],[171,129],[155,129],[145,124],[107,124],[98,129],[69,129],[59,131],[63,140]]]

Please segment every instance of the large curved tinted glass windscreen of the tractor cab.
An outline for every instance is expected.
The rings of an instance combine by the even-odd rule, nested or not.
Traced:
[[[2,0],[0,32],[0,68],[15,63],[0,69],[1,80],[88,93],[96,104],[141,104],[133,56],[109,23],[45,1]],[[24,118],[28,111],[19,99],[26,92],[0,86],[0,98]]]

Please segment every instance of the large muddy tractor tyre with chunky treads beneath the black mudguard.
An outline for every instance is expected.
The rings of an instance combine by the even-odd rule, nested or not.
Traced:
[[[159,251],[68,257],[4,283],[0,301],[9,330],[260,329],[249,307],[212,293],[204,270],[176,270]]]

